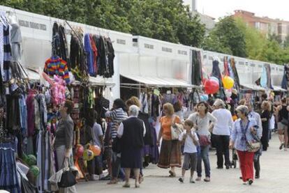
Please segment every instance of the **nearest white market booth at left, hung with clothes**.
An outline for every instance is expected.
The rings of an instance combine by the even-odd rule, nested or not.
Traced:
[[[14,24],[11,27],[17,27],[17,32],[21,34],[17,42],[12,42],[11,45],[20,45],[22,55],[15,61],[6,59],[9,60],[9,67],[13,71],[16,66],[14,64],[17,63],[17,70],[20,69],[21,75],[3,80],[4,82],[11,81],[11,85],[8,84],[6,93],[1,92],[1,103],[2,105],[4,103],[7,116],[5,127],[0,129],[0,140],[5,140],[7,143],[1,144],[0,154],[3,155],[3,148],[9,148],[11,156],[10,160],[1,162],[1,165],[6,168],[8,167],[5,164],[15,166],[15,160],[12,158],[17,153],[17,156],[25,162],[27,171],[34,172],[34,178],[30,183],[34,183],[39,192],[50,192],[55,190],[55,187],[53,188],[52,184],[48,183],[48,179],[58,171],[54,159],[50,159],[54,157],[50,146],[52,146],[52,139],[59,120],[57,109],[63,105],[66,99],[73,100],[74,108],[71,113],[75,125],[73,147],[77,149],[81,145],[84,146],[86,143],[83,139],[85,118],[91,116],[90,110],[98,111],[98,116],[103,118],[103,107],[110,108],[112,100],[119,98],[119,56],[131,52],[132,36],[4,6],[0,6],[0,12],[2,18],[8,18],[7,21],[4,21],[5,24]],[[10,21],[10,18],[15,18],[15,23],[12,23],[13,20]],[[1,22],[3,21],[1,20]],[[58,26],[57,30],[55,30],[55,26]],[[60,29],[64,29],[64,33],[61,33]],[[57,35],[54,34],[55,31]],[[88,52],[87,45],[92,47],[96,40],[102,38],[105,43],[105,47],[102,49],[105,51],[103,52],[105,55],[98,55],[98,51],[94,50],[94,58],[91,63],[98,62],[96,61],[98,58],[101,60],[108,57],[108,59],[105,59],[105,63],[101,60],[97,66],[93,66],[94,71],[90,72],[90,69],[85,69],[89,68],[86,60],[84,60],[85,66],[80,64],[82,63],[81,59],[89,59],[87,55],[83,54],[80,56],[80,58],[82,57],[80,60],[79,58],[75,59],[76,65],[73,67],[71,60],[71,56],[75,56],[72,54],[74,49],[71,49],[73,36],[76,37],[77,52],[80,51],[82,54]],[[98,39],[86,39],[92,36]],[[8,38],[10,39],[10,34]],[[64,49],[60,46],[61,52],[59,52],[59,47],[55,46],[59,44],[58,40],[60,40],[61,46],[64,45]],[[62,40],[64,43],[61,42]],[[14,55],[12,54],[12,56]],[[60,65],[57,66],[60,70],[55,72],[50,69],[54,65],[51,62],[52,57],[60,61]],[[96,72],[96,67],[97,69],[103,68],[103,63],[105,68],[101,75]],[[57,76],[53,76],[54,74],[51,72]],[[29,81],[27,81],[27,77]],[[3,122],[5,123],[5,121]],[[101,119],[100,123],[102,129],[105,130],[105,121]],[[86,150],[88,149],[86,148]],[[75,153],[73,155],[78,156]],[[30,157],[29,161],[27,157]],[[80,177],[85,178],[82,167],[84,164],[78,163],[77,160],[84,160],[84,158],[82,155],[76,157],[75,165],[81,174]],[[84,162],[86,161],[84,160]],[[14,167],[10,169],[9,173],[13,173],[13,178],[6,180],[1,187],[10,192],[19,192],[20,181],[16,177],[17,171]]]

